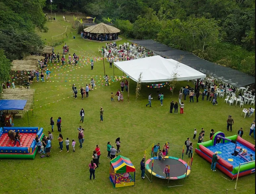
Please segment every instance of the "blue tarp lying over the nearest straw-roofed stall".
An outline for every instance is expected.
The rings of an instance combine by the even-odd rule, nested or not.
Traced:
[[[7,113],[13,113],[13,111],[25,111],[24,108],[27,104],[27,100],[0,100],[0,111]],[[27,111],[28,115],[28,111]],[[29,117],[28,117],[29,127]]]

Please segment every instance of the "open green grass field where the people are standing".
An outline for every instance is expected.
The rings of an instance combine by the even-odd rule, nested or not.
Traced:
[[[50,39],[53,35],[61,34],[65,31],[63,26],[71,25],[68,22],[57,21],[55,26],[49,22],[49,32],[42,35],[43,40]],[[58,26],[58,30],[56,29]],[[120,43],[127,42],[122,40]],[[205,140],[209,140],[210,130],[223,131],[227,136],[235,135],[240,127],[244,128],[244,139],[254,144],[254,139],[249,137],[249,128],[253,118],[241,116],[242,108],[239,106],[229,106],[224,103],[224,99],[219,98],[219,105],[212,106],[210,102],[201,101],[199,103],[189,103],[185,101],[185,114],[170,114],[169,104],[171,100],[178,99],[179,88],[187,85],[187,82],[180,82],[175,92],[172,94],[167,88],[161,89],[164,93],[164,106],[156,100],[156,89],[147,88],[142,85],[141,95],[135,101],[136,83],[130,81],[130,102],[127,101],[127,92],[124,93],[124,102],[110,102],[111,92],[114,94],[120,88],[120,81],[112,83],[109,87],[102,87],[103,83],[103,62],[95,62],[94,70],[86,65],[88,59],[93,56],[101,57],[98,48],[103,44],[69,38],[67,44],[70,53],[76,52],[80,56],[78,67],[64,66],[58,68],[58,64],[52,64],[51,82],[36,83],[31,86],[35,89],[35,105],[33,106],[34,116],[29,112],[29,122],[31,127],[43,127],[44,133],[51,129],[50,117],[54,117],[56,122],[60,116],[62,118],[62,135],[64,139],[76,139],[76,152],[59,152],[57,142],[57,128],[53,133],[53,149],[50,158],[40,158],[37,154],[34,160],[11,160],[2,159],[0,161],[0,194],[110,194],[110,193],[148,193],[148,194],[252,194],[255,193],[255,174],[239,178],[238,189],[234,190],[235,180],[230,182],[225,174],[217,169],[213,173],[210,170],[210,163],[197,154],[194,155],[192,172],[185,180],[183,187],[167,188],[167,180],[153,177],[150,183],[147,179],[140,179],[140,160],[144,156],[144,150],[151,144],[158,142],[162,145],[170,142],[171,156],[181,157],[182,147],[187,137],[193,137],[194,128],[198,131],[204,128],[206,131]],[[117,43],[118,44],[118,43]],[[105,45],[105,43],[104,43]],[[55,51],[61,52],[61,46]],[[55,68],[54,68],[55,67]],[[106,63],[106,74],[113,75],[113,69]],[[116,76],[123,76],[123,73],[115,68]],[[101,76],[101,77],[100,77]],[[91,77],[97,81],[94,91],[89,93],[89,98],[82,100],[78,94],[78,99],[74,99],[71,92],[73,83],[76,86],[85,86]],[[98,79],[98,80],[97,80]],[[100,81],[100,82],[99,82]],[[100,84],[100,85],[99,85]],[[192,85],[192,83],[189,83]],[[154,100],[152,108],[146,107],[148,93],[153,93]],[[104,122],[100,122],[100,107],[104,108]],[[77,129],[80,125],[79,111],[85,109],[85,143],[83,149],[78,149]],[[245,105],[248,107],[248,105]],[[226,131],[226,120],[231,114],[235,120],[232,132]],[[18,126],[28,126],[28,119],[15,119],[14,124]],[[130,158],[136,167],[136,183],[134,187],[113,189],[109,181],[109,159],[107,159],[107,142],[113,145],[115,139],[121,137],[121,155]],[[100,158],[100,168],[96,169],[96,180],[89,180],[88,164],[92,159],[92,151],[96,144],[101,147],[102,156]],[[65,147],[65,146],[64,146]],[[196,141],[194,141],[196,148]],[[187,156],[185,161],[189,161]],[[230,180],[230,179],[229,179]],[[170,181],[169,185],[183,183],[184,180]]]

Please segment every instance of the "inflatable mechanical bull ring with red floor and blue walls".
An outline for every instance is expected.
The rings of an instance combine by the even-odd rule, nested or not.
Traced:
[[[14,136],[20,132],[19,147],[14,146]],[[38,127],[4,127],[0,128],[0,158],[1,159],[34,159],[37,151],[35,138],[42,139],[43,128]]]

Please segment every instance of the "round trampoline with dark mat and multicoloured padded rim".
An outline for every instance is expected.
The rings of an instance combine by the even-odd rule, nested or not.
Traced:
[[[154,160],[154,163],[153,163]],[[153,170],[152,170],[153,163]],[[158,157],[150,158],[146,161],[146,169],[151,174],[158,178],[166,179],[164,174],[165,166],[170,166],[169,179],[177,180],[183,179],[190,174],[190,167],[188,163],[182,159],[166,156],[165,160],[159,161]]]

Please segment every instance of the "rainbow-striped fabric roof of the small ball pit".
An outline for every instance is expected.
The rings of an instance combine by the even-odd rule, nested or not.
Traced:
[[[110,165],[113,167],[115,173],[135,172],[135,167],[131,160],[124,156],[117,156],[110,160]]]

